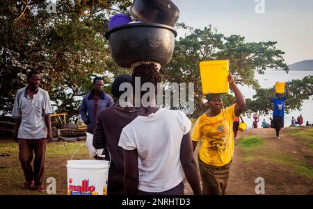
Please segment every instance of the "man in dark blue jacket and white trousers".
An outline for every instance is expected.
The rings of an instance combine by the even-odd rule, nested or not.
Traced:
[[[113,105],[112,97],[103,91],[103,87],[103,79],[101,77],[95,77],[93,79],[93,90],[83,96],[83,101],[79,109],[81,119],[83,119],[83,122],[88,126],[86,147],[89,156],[97,160],[103,159],[103,149],[96,150],[95,147],[93,147],[93,131],[97,122],[97,115],[103,108]]]

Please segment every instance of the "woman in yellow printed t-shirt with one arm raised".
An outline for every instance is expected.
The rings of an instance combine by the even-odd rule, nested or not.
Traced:
[[[236,103],[223,108],[223,94],[207,95],[209,110],[198,118],[193,127],[193,151],[203,140],[198,156],[202,194],[225,194],[234,153],[232,125],[246,107],[232,74],[228,75],[228,82],[234,90]]]

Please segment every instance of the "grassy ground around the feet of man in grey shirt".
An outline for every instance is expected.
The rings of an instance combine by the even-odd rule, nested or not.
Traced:
[[[51,142],[47,144],[45,160],[45,180],[56,178],[56,194],[67,194],[66,160],[81,147],[73,159],[92,159],[88,156],[85,142]],[[18,160],[18,145],[13,140],[0,141],[0,194],[42,194],[33,190],[24,190],[24,174]],[[46,183],[46,186],[49,183]],[[44,193],[46,194],[46,193]]]

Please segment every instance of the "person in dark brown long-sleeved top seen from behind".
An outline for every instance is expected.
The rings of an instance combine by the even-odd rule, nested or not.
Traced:
[[[149,115],[144,108],[136,108],[133,106],[131,98],[119,100],[125,90],[119,90],[122,83],[131,85],[131,75],[122,74],[115,78],[111,87],[111,94],[118,99],[113,106],[104,108],[99,112],[95,132],[93,135],[93,147],[95,149],[104,149],[107,153],[109,149],[110,155],[106,154],[104,160],[110,160],[111,164],[108,177],[108,195],[121,195],[124,190],[124,155],[122,147],[118,146],[120,133],[122,129],[132,122],[138,115]],[[132,94],[132,92],[131,92]],[[127,101],[128,100],[128,101]],[[109,119],[108,119],[109,118]]]

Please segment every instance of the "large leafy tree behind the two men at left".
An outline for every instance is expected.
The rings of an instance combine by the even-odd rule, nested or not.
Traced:
[[[78,113],[77,97],[92,87],[91,78],[125,72],[111,59],[104,33],[109,17],[127,12],[130,1],[1,1],[0,110],[10,112],[18,88],[31,70],[42,73],[56,112]]]

